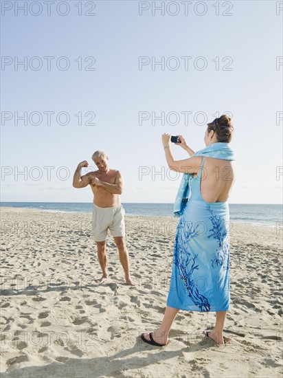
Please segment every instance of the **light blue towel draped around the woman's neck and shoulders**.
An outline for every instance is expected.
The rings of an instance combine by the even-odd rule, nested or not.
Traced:
[[[224,142],[212,143],[210,144],[210,146],[203,148],[203,150],[197,151],[192,156],[208,156],[214,157],[214,159],[235,160],[233,150],[228,143]],[[192,173],[183,174],[183,178],[181,180],[181,184],[174,203],[174,216],[181,216],[183,214],[185,204],[190,199],[191,188],[189,178],[192,175]]]

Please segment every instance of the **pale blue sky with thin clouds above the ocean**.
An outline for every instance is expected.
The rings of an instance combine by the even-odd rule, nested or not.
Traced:
[[[282,1],[1,1],[1,201],[91,202],[73,173],[104,150],[122,202],[172,203],[181,175],[161,134],[199,151],[229,113],[229,202],[281,203],[282,14]]]

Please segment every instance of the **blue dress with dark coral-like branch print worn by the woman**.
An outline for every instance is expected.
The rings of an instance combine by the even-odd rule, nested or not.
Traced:
[[[227,311],[229,205],[203,200],[204,160],[199,175],[190,177],[191,196],[177,226],[167,305],[186,311]]]

